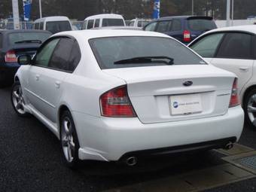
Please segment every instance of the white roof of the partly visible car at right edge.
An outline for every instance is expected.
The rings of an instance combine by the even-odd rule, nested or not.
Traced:
[[[213,29],[205,34],[213,33],[213,32],[251,32],[256,34],[256,26],[248,25],[248,26],[229,26],[218,29]],[[204,35],[205,35],[204,34]]]

